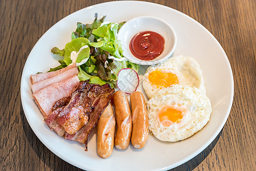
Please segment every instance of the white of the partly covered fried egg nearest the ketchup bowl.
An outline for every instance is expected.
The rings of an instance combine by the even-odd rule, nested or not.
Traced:
[[[152,84],[148,79],[149,73],[155,70],[172,72],[177,76],[178,84],[197,87],[203,93],[206,92],[202,70],[198,62],[192,57],[180,55],[173,56],[166,59],[164,62],[147,68],[143,76],[143,88],[148,98],[151,98],[156,91],[162,88]]]

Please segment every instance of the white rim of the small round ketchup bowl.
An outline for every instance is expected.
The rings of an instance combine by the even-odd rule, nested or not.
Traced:
[[[127,60],[129,60],[132,63],[140,64],[142,66],[151,66],[153,64],[158,64],[158,63],[168,59],[170,56],[172,56],[172,54],[173,54],[173,52],[174,52],[174,50],[176,49],[176,46],[177,46],[177,34],[176,34],[176,31],[174,30],[174,28],[172,27],[172,25],[170,25],[170,23],[166,22],[164,19],[154,17],[154,16],[151,16],[151,15],[142,15],[140,17],[135,17],[135,18],[132,18],[132,19],[128,20],[127,22],[124,23],[123,26],[121,26],[119,32],[123,31],[125,29],[125,27],[128,26],[129,23],[132,23],[132,22],[136,21],[137,19],[143,19],[143,18],[152,18],[152,19],[155,19],[155,20],[158,20],[158,21],[164,23],[164,25],[168,26],[171,34],[173,35],[173,46],[172,46],[172,48],[170,48],[170,52],[168,54],[166,54],[165,56],[162,56],[160,59],[159,59],[159,57],[157,57],[153,60],[141,60],[141,59],[136,58],[135,56],[133,56],[133,58],[130,58],[131,55],[127,54],[125,52],[125,50],[129,51],[129,49],[125,48],[124,45],[122,44],[123,56]],[[147,31],[151,31],[151,30],[147,30]],[[120,40],[122,42],[122,40],[120,38],[123,38],[123,35],[122,34],[117,34],[117,40]]]

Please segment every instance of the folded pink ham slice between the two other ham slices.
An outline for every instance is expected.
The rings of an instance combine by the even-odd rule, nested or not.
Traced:
[[[78,74],[78,68],[74,67],[71,68],[70,70],[64,71],[58,75],[52,76],[51,78],[42,80],[40,82],[37,82],[35,84],[31,85],[32,88],[32,92],[36,93],[38,92],[40,89],[46,88],[48,86],[50,86],[51,84],[54,83],[58,83],[58,82],[62,82],[63,80],[66,80],[68,78],[71,78],[74,75]]]

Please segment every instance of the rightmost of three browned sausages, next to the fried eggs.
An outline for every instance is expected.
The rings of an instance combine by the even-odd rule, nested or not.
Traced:
[[[143,93],[136,91],[130,96],[132,107],[132,137],[135,148],[143,148],[148,141],[148,112]]]

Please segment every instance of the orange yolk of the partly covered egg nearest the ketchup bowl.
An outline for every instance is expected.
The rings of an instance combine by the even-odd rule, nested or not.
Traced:
[[[177,75],[172,72],[164,72],[161,70],[155,70],[148,75],[149,82],[155,86],[169,87],[172,84],[178,84]]]

